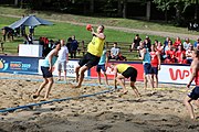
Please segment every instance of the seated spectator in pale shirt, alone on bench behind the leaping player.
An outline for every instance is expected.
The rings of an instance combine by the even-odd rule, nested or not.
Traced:
[[[113,47],[111,48],[111,55],[108,56],[108,59],[116,59],[118,61],[119,59],[119,53],[121,53],[121,50],[119,47],[117,47],[117,43],[115,42]]]

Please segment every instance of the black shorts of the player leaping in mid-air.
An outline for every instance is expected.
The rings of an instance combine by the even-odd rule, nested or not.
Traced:
[[[88,68],[96,66],[101,57],[86,53],[82,59],[80,59],[78,65],[82,67],[86,65]]]

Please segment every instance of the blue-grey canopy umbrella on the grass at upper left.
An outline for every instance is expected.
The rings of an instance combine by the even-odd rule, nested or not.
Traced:
[[[11,25],[9,25],[9,28],[14,30],[21,25],[36,26],[36,25],[52,25],[52,24],[53,24],[52,22],[36,18],[35,15],[29,15],[29,16],[24,16],[21,20],[12,23]]]

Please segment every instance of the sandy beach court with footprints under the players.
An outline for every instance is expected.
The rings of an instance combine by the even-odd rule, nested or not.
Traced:
[[[69,78],[72,82],[74,78]],[[40,102],[31,95],[39,88],[41,76],[0,73],[0,109]],[[56,80],[56,77],[55,77]],[[109,80],[111,84],[113,80]],[[80,97],[107,91],[96,85],[96,79],[85,79],[82,88],[72,89],[71,84],[55,82],[50,100]],[[142,98],[133,90],[118,97],[119,91],[87,98],[46,103],[33,109],[19,109],[0,113],[2,132],[198,132],[199,120],[191,121],[182,105],[188,91],[182,85],[159,85],[153,92],[136,82]],[[42,95],[44,95],[42,92]],[[195,106],[196,114],[199,111]]]

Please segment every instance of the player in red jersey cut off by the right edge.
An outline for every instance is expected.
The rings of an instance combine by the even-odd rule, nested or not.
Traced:
[[[196,87],[185,97],[184,103],[190,114],[190,118],[195,120],[196,116],[193,113],[193,106],[191,102],[195,101],[195,105],[199,108],[199,51],[197,50],[192,53],[192,63],[190,68],[192,74],[190,76],[189,82],[187,84],[187,88],[190,87],[192,80],[195,80]]]

